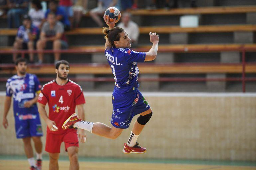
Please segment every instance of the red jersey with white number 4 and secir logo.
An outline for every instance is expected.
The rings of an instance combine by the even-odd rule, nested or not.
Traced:
[[[56,123],[58,131],[50,131],[47,127],[47,132],[55,134],[66,132],[62,129],[63,123],[75,112],[76,105],[85,103],[82,88],[72,80],[68,80],[63,86],[58,85],[55,80],[46,83],[43,85],[37,101],[43,105],[48,103],[48,117]]]

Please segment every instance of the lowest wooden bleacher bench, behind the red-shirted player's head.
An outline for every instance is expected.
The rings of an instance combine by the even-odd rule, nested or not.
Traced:
[[[141,74],[205,74],[205,73],[242,73],[242,64],[147,64],[138,63]],[[53,65],[28,67],[33,74],[53,74]],[[256,73],[256,64],[247,64],[246,73]],[[15,69],[1,70],[0,74],[15,74]],[[108,64],[71,64],[70,74],[112,74]]]

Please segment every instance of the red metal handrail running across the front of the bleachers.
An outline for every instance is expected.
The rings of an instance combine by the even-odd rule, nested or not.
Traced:
[[[145,51],[146,48],[135,48],[136,51]],[[12,53],[21,53],[22,57],[25,56],[26,53],[94,53],[94,52],[103,52],[104,48],[98,49],[98,48],[91,48],[91,49],[66,49],[66,50],[0,50],[0,54],[12,54]],[[220,49],[209,49],[207,47],[205,48],[188,48],[186,45],[184,48],[173,48],[173,49],[159,49],[159,52],[220,52]],[[225,49],[221,49],[221,51],[239,51],[242,52],[242,78],[140,78],[141,81],[242,81],[242,89],[243,92],[245,92],[245,82],[246,81],[256,81],[256,78],[246,78],[245,77],[245,68],[248,63],[245,62],[245,52],[246,51],[256,51],[256,48],[254,47],[245,47],[243,44],[241,44],[239,47],[230,48],[227,47]],[[169,63],[169,64],[157,64],[157,65],[194,65],[194,64],[200,64],[200,65],[207,65],[207,64],[217,64],[217,65],[223,65],[223,63]],[[237,63],[240,65],[241,63]],[[254,63],[255,64],[255,63]],[[44,65],[53,65],[53,64],[43,64]],[[92,65],[92,64],[83,64],[83,65]],[[106,64],[98,64],[93,63],[93,65],[106,65]],[[148,64],[152,65],[152,64]],[[225,65],[228,65],[228,63],[225,63]],[[232,64],[234,65],[234,64]],[[38,67],[36,65],[31,65],[32,67]],[[13,64],[0,64],[0,68],[10,68],[14,67]],[[40,78],[43,80],[51,80],[50,78]],[[0,78],[0,81],[6,81],[6,78]],[[113,81],[112,78],[75,78],[76,81]]]

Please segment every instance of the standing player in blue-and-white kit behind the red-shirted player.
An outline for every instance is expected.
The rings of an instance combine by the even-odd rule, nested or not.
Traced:
[[[19,58],[15,62],[17,75],[12,76],[6,83],[6,97],[4,102],[3,126],[8,127],[7,114],[13,96],[13,114],[15,118],[16,138],[21,138],[24,143],[25,154],[31,170],[42,168],[42,142],[43,135],[37,98],[41,85],[36,75],[26,73],[27,62]],[[35,164],[31,139],[34,141],[37,163]]]

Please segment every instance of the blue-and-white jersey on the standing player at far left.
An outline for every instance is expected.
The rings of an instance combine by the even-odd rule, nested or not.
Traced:
[[[33,119],[32,116],[38,113],[37,105],[33,104],[30,108],[24,108],[24,103],[35,98],[36,92],[41,89],[41,85],[33,74],[24,76],[14,75],[7,80],[6,96],[13,96],[13,113],[19,115],[19,119]]]

